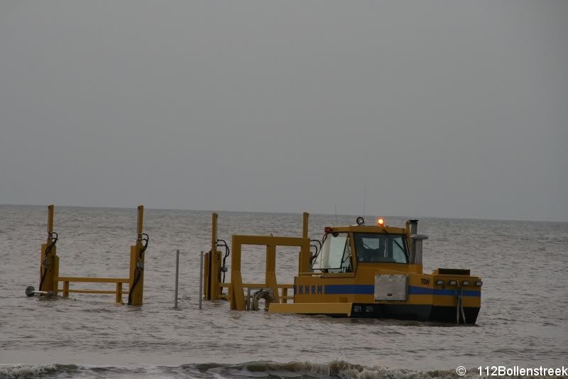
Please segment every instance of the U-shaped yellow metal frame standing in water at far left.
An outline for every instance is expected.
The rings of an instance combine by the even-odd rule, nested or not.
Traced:
[[[138,219],[136,222],[136,244],[130,249],[130,275],[129,278],[84,278],[72,276],[59,276],[59,256],[56,255],[57,246],[53,246],[48,256],[45,257],[45,250],[53,242],[53,219],[55,209],[53,205],[48,207],[48,239],[46,243],[41,245],[40,251],[40,280],[44,270],[47,267],[43,289],[44,291],[53,291],[55,294],[62,292],[62,297],[69,297],[70,293],[90,293],[90,294],[109,294],[116,296],[116,304],[122,304],[122,285],[129,283],[129,289],[133,285],[135,275],[140,273],[141,277],[138,284],[132,291],[132,305],[139,306],[143,304],[143,281],[144,281],[144,253],[141,256],[141,262],[138,263],[138,255],[141,252],[142,234],[143,234],[143,215],[144,207],[138,206]],[[47,263],[47,265],[46,265]],[[58,283],[63,282],[63,288],[59,289]],[[115,290],[71,290],[71,282],[96,282],[96,283],[116,283]]]

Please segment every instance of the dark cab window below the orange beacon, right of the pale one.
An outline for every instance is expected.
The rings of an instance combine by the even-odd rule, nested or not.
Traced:
[[[408,264],[404,234],[354,233],[354,242],[358,262]]]

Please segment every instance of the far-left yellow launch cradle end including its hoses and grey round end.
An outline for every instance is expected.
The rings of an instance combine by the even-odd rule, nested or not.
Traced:
[[[144,207],[138,206],[138,221],[136,223],[136,244],[130,247],[130,270],[129,278],[84,278],[59,275],[59,256],[57,255],[58,234],[53,231],[54,207],[48,207],[48,239],[41,245],[40,250],[40,286],[35,291],[33,287],[26,289],[26,295],[57,295],[62,292],[62,297],[69,297],[70,293],[109,294],[116,296],[116,304],[122,303],[122,285],[129,284],[129,305],[140,306],[143,304],[144,287],[144,256],[148,247],[148,234],[143,233]],[[63,282],[63,288],[59,288],[59,282]],[[70,289],[71,282],[96,282],[115,283],[115,290],[75,290]]]

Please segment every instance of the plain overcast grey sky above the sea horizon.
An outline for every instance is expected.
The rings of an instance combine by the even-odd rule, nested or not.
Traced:
[[[568,1],[1,1],[0,204],[568,221]]]

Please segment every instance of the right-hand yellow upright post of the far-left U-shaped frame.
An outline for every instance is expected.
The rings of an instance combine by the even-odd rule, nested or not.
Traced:
[[[136,222],[136,245],[130,247],[130,276],[129,276],[129,304],[143,304],[144,289],[144,252],[142,250],[142,228],[144,207],[138,205],[138,220]]]

